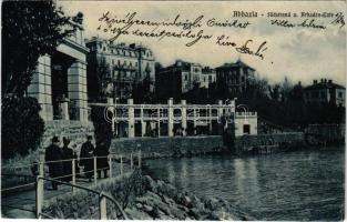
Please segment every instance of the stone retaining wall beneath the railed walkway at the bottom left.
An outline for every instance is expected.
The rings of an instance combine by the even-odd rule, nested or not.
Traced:
[[[137,173],[139,175],[139,173]],[[135,182],[137,185],[130,185]],[[127,192],[126,188],[132,188]],[[140,193],[135,193],[135,189],[141,189],[141,174],[134,179],[133,173],[126,173],[123,176],[106,179],[100,181],[96,186],[92,185],[90,189],[95,191],[103,191],[112,195],[116,201],[123,205],[124,195],[129,199],[126,201],[131,204],[134,198]],[[106,201],[108,219],[116,219],[115,205],[111,201]],[[71,192],[49,199],[44,202],[42,212],[54,219],[82,219],[82,220],[98,220],[100,219],[99,194],[88,192],[85,190],[76,189],[75,194]]]

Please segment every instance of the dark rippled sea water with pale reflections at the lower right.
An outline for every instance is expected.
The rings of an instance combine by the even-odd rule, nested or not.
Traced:
[[[228,200],[258,220],[341,220],[340,149],[258,157],[147,160],[147,171],[196,195]]]

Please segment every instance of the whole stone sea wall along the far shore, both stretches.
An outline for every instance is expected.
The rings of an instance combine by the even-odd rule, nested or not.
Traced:
[[[262,135],[237,137],[236,150],[255,145],[302,144],[304,133],[286,132]],[[142,158],[167,158],[204,154],[226,150],[221,135],[186,137],[186,138],[133,138],[112,140],[110,152],[129,155],[141,150]]]

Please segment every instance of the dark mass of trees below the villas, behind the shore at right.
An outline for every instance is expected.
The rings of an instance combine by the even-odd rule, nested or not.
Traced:
[[[287,78],[275,84],[269,84],[265,79],[256,79],[239,93],[232,93],[226,85],[215,83],[210,84],[208,89],[194,85],[175,100],[178,102],[185,99],[188,103],[212,104],[216,100],[233,98],[237,98],[237,104],[245,104],[249,111],[257,111],[259,120],[269,125],[299,128],[312,123],[345,122],[345,108],[334,103],[306,103],[303,85],[293,84]]]

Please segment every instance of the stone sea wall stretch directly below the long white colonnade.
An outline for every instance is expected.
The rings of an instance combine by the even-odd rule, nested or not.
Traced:
[[[142,158],[200,154],[223,147],[222,137],[134,138],[112,140],[110,152],[129,155],[141,150]]]

